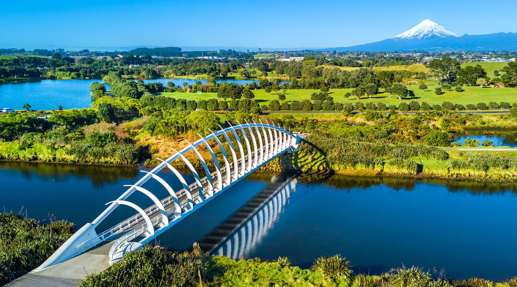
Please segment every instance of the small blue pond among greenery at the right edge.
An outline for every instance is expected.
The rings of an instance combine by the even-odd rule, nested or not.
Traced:
[[[453,139],[455,141],[463,143],[465,139],[477,139],[479,141],[478,146],[483,145],[483,141],[490,139],[494,147],[510,147],[517,148],[517,132],[505,131],[505,130],[472,130],[466,131],[465,133],[454,134]]]

